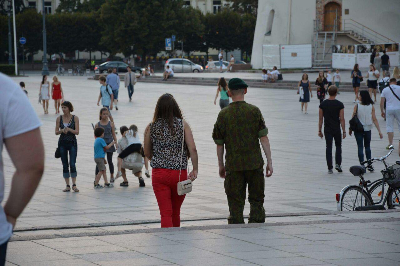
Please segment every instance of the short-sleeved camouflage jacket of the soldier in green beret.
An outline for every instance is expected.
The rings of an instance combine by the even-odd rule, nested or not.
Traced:
[[[236,101],[218,114],[212,138],[215,144],[225,144],[226,171],[244,171],[262,168],[259,138],[268,134],[258,107]]]

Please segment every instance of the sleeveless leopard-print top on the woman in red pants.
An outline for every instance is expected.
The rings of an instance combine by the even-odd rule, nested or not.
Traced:
[[[158,119],[150,123],[150,139],[153,144],[153,157],[150,165],[152,168],[181,169],[180,156],[182,151],[183,121],[174,117],[174,131],[172,135],[168,122],[165,119]],[[184,144],[182,156],[182,169],[188,168],[186,144]]]

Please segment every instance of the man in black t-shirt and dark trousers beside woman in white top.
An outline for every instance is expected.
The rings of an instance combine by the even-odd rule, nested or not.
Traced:
[[[335,153],[335,169],[342,173],[342,136],[346,137],[346,129],[344,122],[344,105],[341,101],[336,100],[338,94],[338,87],[331,85],[328,88],[329,98],[320,103],[320,120],[318,123],[318,136],[322,139],[322,122],[324,123],[324,134],[326,141],[326,163],[328,164],[328,174],[332,174],[332,143],[335,139],[336,153]],[[343,134],[340,131],[342,126]]]

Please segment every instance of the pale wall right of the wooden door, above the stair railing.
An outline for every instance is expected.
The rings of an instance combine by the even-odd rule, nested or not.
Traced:
[[[345,15],[344,10],[349,14]],[[399,0],[343,0],[342,22],[352,19],[364,26],[400,42]]]

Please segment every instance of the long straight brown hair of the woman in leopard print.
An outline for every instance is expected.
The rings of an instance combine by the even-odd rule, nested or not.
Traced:
[[[165,93],[158,98],[152,123],[155,123],[160,118],[165,119],[168,123],[168,128],[172,135],[174,135],[174,117],[183,120],[182,111],[180,110],[178,103],[175,101],[174,96],[170,93]]]

